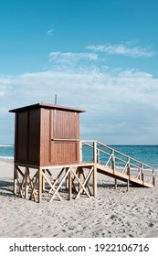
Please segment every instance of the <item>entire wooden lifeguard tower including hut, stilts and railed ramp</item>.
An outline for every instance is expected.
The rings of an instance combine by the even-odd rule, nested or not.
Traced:
[[[97,172],[142,187],[154,187],[154,168],[97,141],[80,141],[76,108],[37,103],[16,113],[14,193],[51,202],[65,195],[97,197]],[[91,159],[82,161],[85,147]],[[101,156],[102,155],[102,156]],[[103,162],[102,162],[103,159]]]

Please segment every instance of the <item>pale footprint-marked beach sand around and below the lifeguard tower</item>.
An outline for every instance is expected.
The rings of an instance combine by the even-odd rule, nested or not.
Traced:
[[[13,163],[0,161],[0,237],[158,237],[157,183],[127,192],[110,177],[98,180],[97,198],[37,204],[13,194]]]

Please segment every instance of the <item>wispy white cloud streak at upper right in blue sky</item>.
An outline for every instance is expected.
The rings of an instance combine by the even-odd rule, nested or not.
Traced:
[[[120,44],[120,45],[111,45],[111,44],[105,44],[105,45],[90,45],[87,48],[94,50],[94,51],[100,51],[104,53],[108,53],[110,55],[124,55],[129,56],[133,58],[139,58],[139,57],[153,57],[154,53],[153,51],[141,48],[139,46],[132,47],[131,44]]]

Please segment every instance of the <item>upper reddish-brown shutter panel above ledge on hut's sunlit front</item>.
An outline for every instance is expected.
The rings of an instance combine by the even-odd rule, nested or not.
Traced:
[[[79,113],[54,111],[52,139],[79,139]]]

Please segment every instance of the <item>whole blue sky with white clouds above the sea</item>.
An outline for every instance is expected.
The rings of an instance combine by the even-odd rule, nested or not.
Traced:
[[[55,102],[86,110],[80,138],[158,144],[157,0],[0,1],[0,144],[9,110]]]

